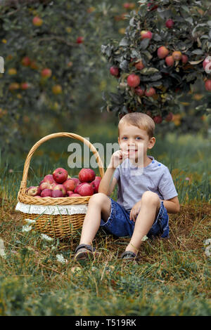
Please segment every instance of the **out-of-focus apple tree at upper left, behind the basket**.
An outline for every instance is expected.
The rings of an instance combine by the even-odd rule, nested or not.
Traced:
[[[107,86],[101,44],[122,33],[125,11],[120,0],[0,2],[1,151],[94,113]]]

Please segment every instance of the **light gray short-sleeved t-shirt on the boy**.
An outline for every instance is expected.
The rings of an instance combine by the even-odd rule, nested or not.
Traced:
[[[129,158],[122,161],[113,174],[117,179],[117,203],[130,211],[139,202],[143,192],[151,191],[160,199],[178,196],[170,170],[153,156],[151,164],[142,169],[134,166]],[[139,171],[139,172],[138,172]]]

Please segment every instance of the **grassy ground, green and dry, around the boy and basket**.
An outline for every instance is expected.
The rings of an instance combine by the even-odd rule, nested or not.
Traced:
[[[91,143],[115,142],[113,126],[77,133],[86,137],[89,131]],[[28,186],[66,166],[68,153],[58,156],[62,146],[47,143],[44,154],[34,155]],[[129,237],[98,232],[94,246],[101,258],[79,265],[72,257],[80,231],[51,242],[33,229],[23,232],[15,204],[25,158],[1,159],[0,238],[6,258],[0,256],[0,315],[211,315],[210,258],[203,244],[211,238],[210,143],[200,136],[168,134],[157,138],[149,154],[169,167],[181,211],[170,214],[170,239],[143,242],[141,263],[127,265],[119,257]],[[60,263],[57,254],[67,263]]]

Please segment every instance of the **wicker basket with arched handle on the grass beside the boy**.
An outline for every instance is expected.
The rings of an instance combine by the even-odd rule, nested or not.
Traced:
[[[30,160],[32,155],[37,150],[37,148],[47,140],[51,138],[75,138],[76,140],[82,141],[86,144],[91,152],[94,153],[96,157],[96,162],[98,164],[99,172],[101,178],[104,175],[103,163],[101,161],[101,157],[99,156],[94,145],[89,143],[89,140],[82,138],[82,136],[78,136],[75,133],[53,133],[49,136],[45,136],[41,138],[35,145],[31,148],[30,152],[27,154],[27,158],[25,160],[25,165],[23,169],[23,179],[20,183],[20,190],[18,192],[18,202],[27,204],[30,206],[87,206],[89,199],[91,196],[87,197],[31,197],[27,196],[27,173],[30,166]],[[70,208],[71,209],[71,208]],[[34,228],[39,230],[50,237],[70,237],[76,230],[78,230],[83,225],[85,213],[75,213],[75,214],[36,214],[36,213],[23,213],[23,220],[30,219],[35,220]]]

